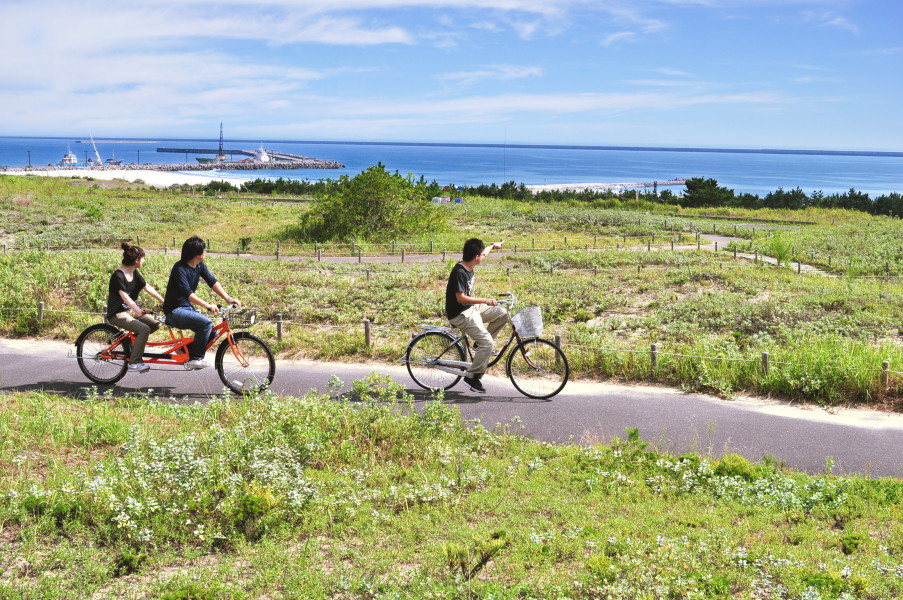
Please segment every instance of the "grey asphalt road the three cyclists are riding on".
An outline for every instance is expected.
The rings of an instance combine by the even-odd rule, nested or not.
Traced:
[[[91,387],[78,368],[74,345],[31,340],[0,340],[0,391],[45,390],[75,398]],[[212,360],[212,356],[208,355]],[[299,396],[325,390],[332,375],[345,382],[378,371],[404,384],[418,403],[428,399],[400,365],[279,361],[273,389]],[[493,371],[501,373],[496,367]],[[763,399],[723,400],[679,390],[576,381],[551,400],[520,396],[504,377],[484,378],[486,394],[463,384],[446,394],[466,419],[548,442],[591,444],[624,437],[636,427],[656,449],[713,457],[734,452],[758,461],[773,457],[809,473],[834,461],[837,474],[903,477],[903,415],[861,409],[828,412]],[[100,388],[103,390],[103,386]],[[179,402],[204,402],[222,390],[216,371],[151,370],[127,374],[117,393],[146,392]]]

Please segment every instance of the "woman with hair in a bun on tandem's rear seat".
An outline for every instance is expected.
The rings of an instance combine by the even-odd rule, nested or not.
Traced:
[[[163,302],[163,296],[148,284],[138,269],[144,265],[144,250],[139,246],[122,243],[122,265],[110,276],[110,288],[107,297],[107,320],[128,331],[134,332],[135,344],[132,346],[132,357],[129,371],[146,373],[150,367],[145,364],[144,346],[150,334],[160,328],[160,323],[147,311],[138,306],[141,290]]]

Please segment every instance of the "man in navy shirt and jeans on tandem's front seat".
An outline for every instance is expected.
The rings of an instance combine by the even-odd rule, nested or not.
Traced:
[[[201,279],[227,303],[241,307],[241,302],[226,293],[204,264],[206,256],[207,245],[204,244],[204,240],[196,235],[185,240],[182,244],[182,259],[173,265],[169,273],[169,283],[166,285],[166,295],[163,297],[163,312],[166,313],[167,325],[194,332],[194,341],[188,345],[189,360],[185,363],[186,369],[205,369],[210,366],[204,360],[204,355],[207,353],[213,321],[198,312],[193,305],[206,308],[214,314],[219,312],[219,308],[204,301],[195,293]]]

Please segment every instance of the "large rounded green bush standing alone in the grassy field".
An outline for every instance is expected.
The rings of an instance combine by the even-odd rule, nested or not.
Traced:
[[[431,202],[428,185],[390,174],[382,164],[325,187],[301,218],[301,237],[310,241],[389,241],[445,224],[445,212]]]

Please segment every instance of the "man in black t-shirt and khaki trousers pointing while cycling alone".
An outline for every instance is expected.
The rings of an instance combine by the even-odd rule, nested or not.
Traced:
[[[477,238],[464,242],[462,260],[452,269],[445,287],[448,320],[473,341],[473,364],[464,376],[464,383],[475,392],[486,391],[480,378],[492,358],[493,336],[508,322],[508,311],[494,298],[473,296],[473,270],[494,248],[501,247],[501,242],[486,247]]]

